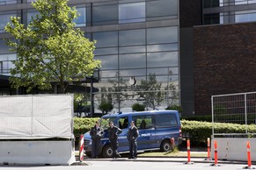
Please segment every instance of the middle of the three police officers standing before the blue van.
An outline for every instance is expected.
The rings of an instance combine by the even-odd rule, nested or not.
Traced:
[[[113,122],[109,123],[109,128],[107,129],[108,132],[108,138],[110,140],[110,145],[113,151],[113,159],[116,159],[117,157],[121,157],[121,155],[118,153],[118,135],[121,133],[121,129],[113,125]]]

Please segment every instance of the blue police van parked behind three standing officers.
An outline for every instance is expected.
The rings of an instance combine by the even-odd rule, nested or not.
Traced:
[[[101,156],[112,157],[113,151],[108,140],[106,129],[108,123],[113,122],[122,132],[119,135],[119,152],[128,152],[128,127],[131,121],[139,130],[137,138],[137,150],[148,151],[160,149],[163,152],[171,150],[171,138],[174,138],[175,145],[181,143],[181,124],[177,110],[152,110],[130,113],[116,113],[105,115],[100,118],[100,125],[104,129],[104,137],[101,138],[99,153]],[[91,156],[90,131],[84,134],[84,151]]]

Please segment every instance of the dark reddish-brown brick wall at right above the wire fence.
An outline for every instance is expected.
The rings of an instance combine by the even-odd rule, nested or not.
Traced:
[[[194,27],[195,114],[211,96],[256,91],[256,23]]]

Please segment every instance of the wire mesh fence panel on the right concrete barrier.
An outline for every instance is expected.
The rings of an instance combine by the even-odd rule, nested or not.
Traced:
[[[212,96],[211,100],[213,136],[255,135],[252,126],[256,124],[256,92]],[[216,123],[230,123],[234,127],[227,131],[225,124],[217,128]]]

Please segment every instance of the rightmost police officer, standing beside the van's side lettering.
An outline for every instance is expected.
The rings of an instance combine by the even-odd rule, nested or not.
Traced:
[[[128,129],[128,141],[130,156],[128,159],[137,159],[137,141],[136,138],[139,136],[138,128],[135,126],[135,122],[131,121],[130,127]]]

